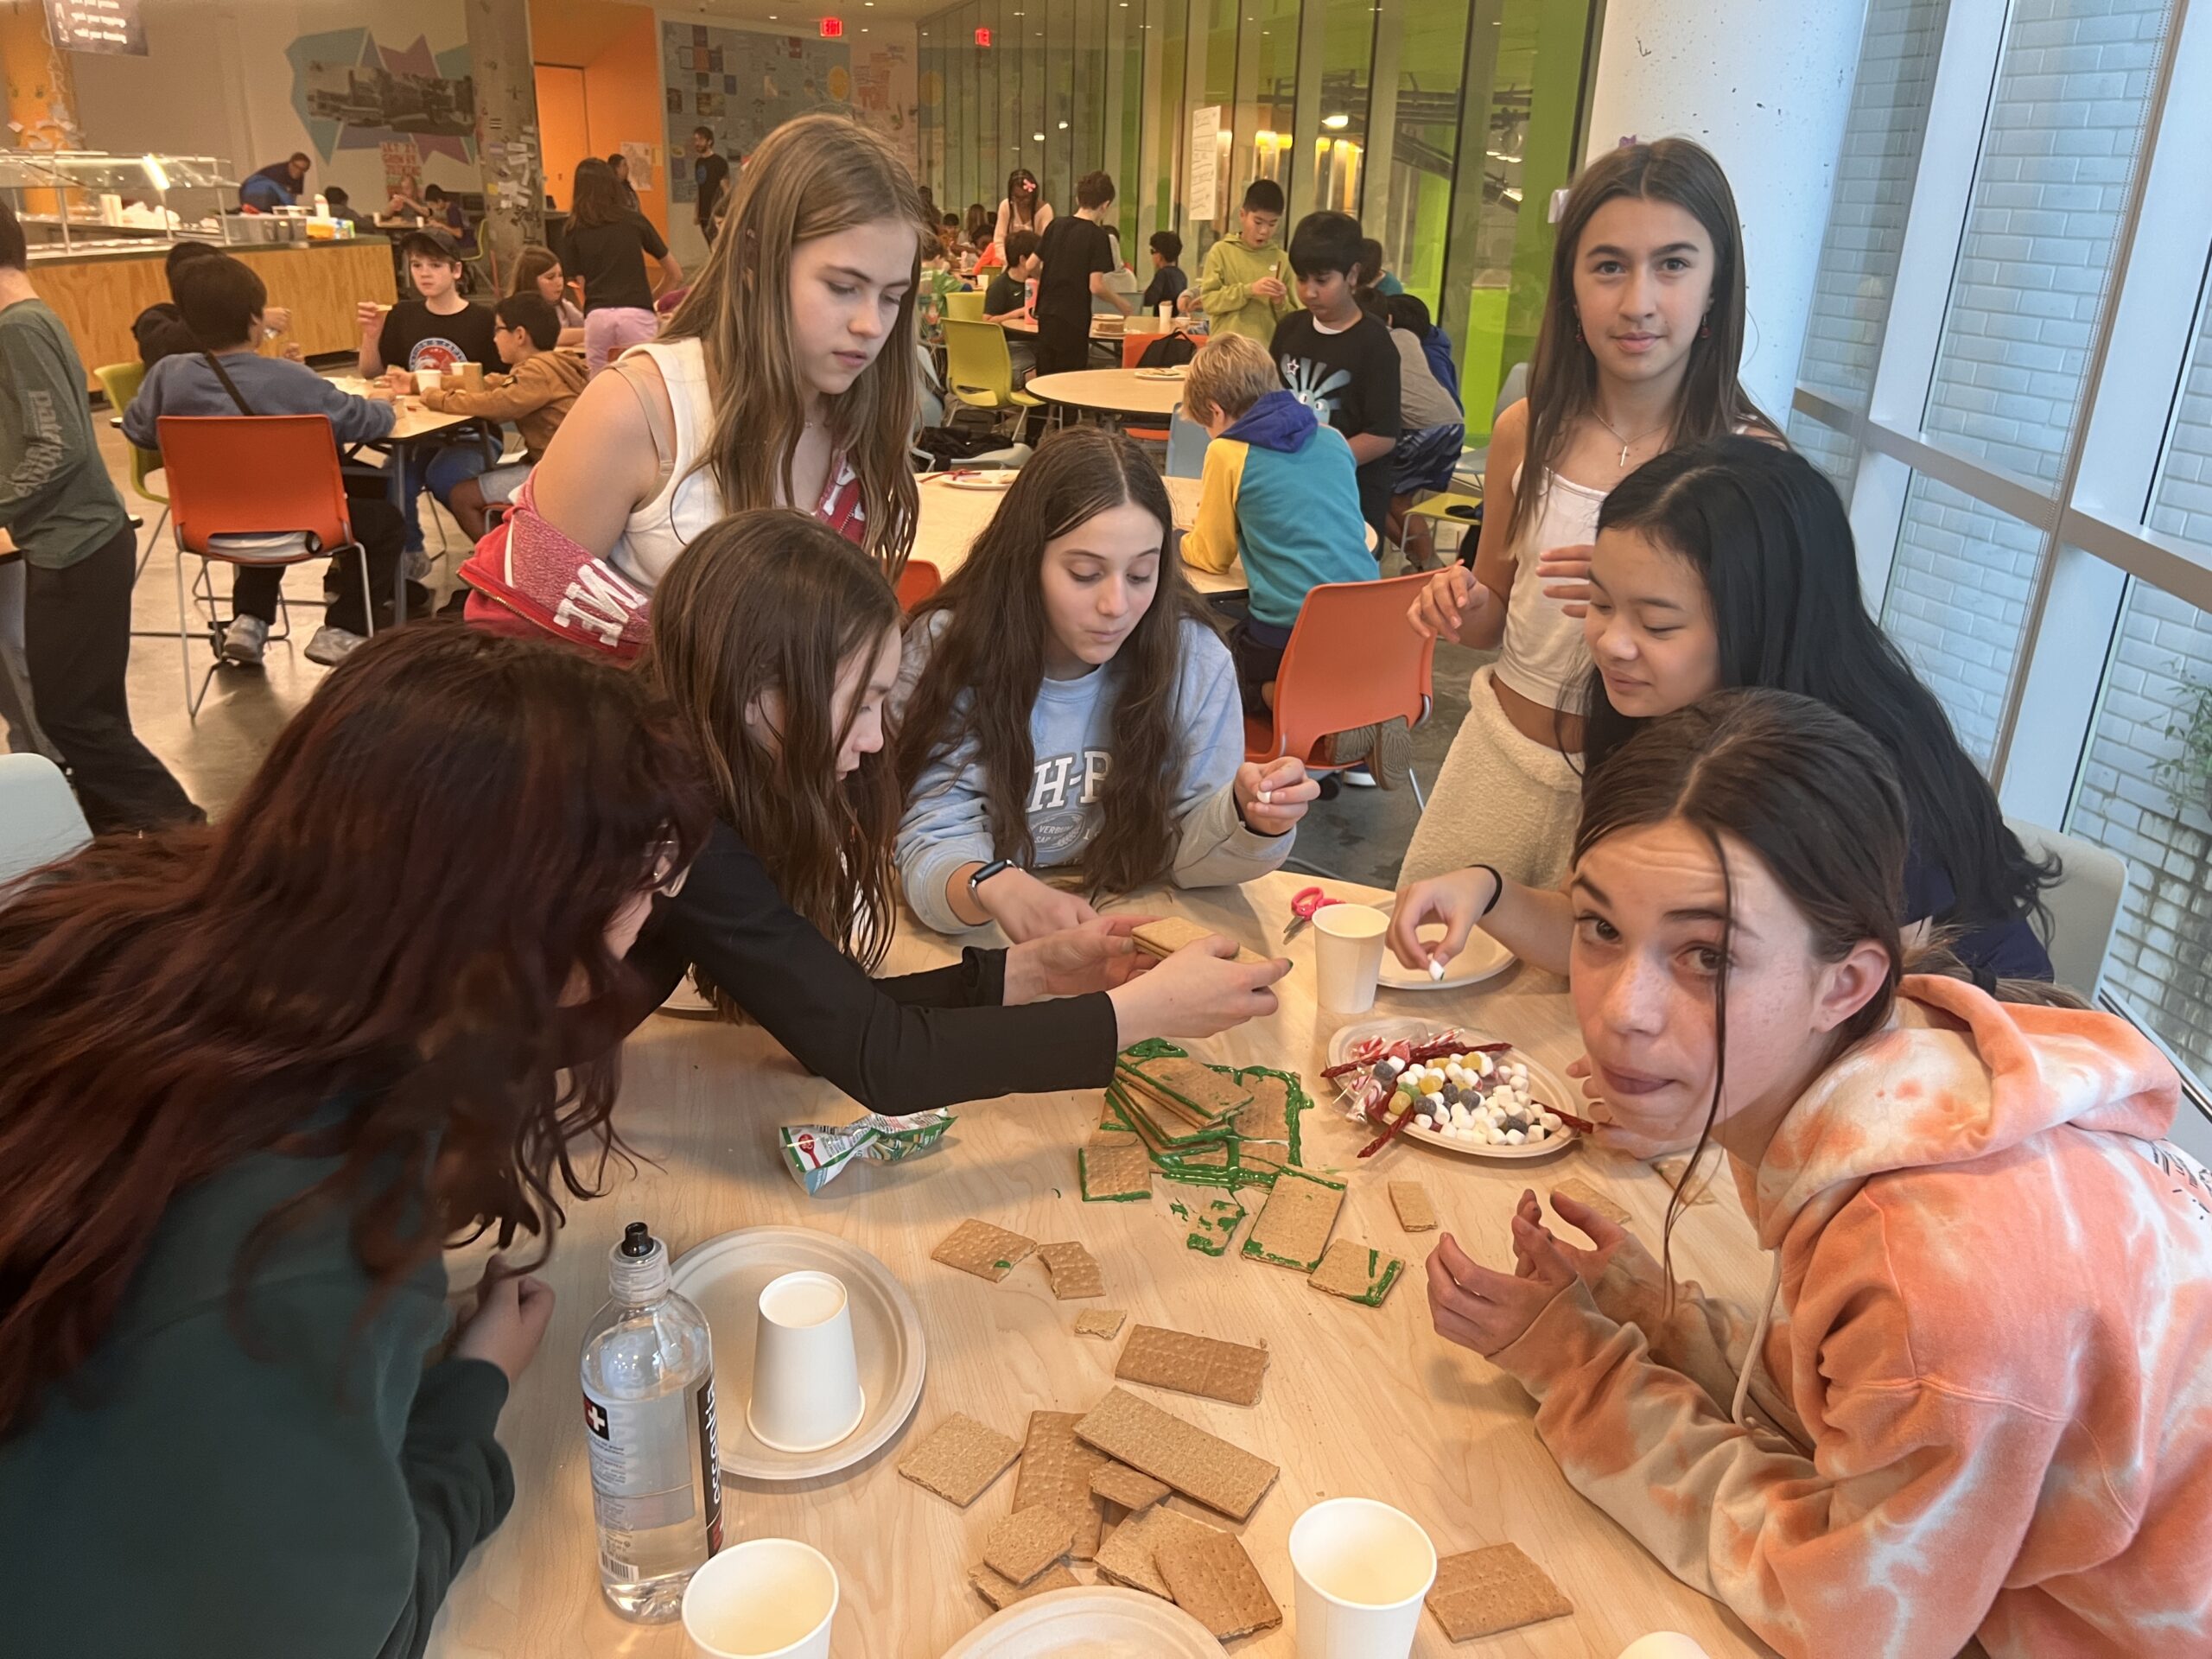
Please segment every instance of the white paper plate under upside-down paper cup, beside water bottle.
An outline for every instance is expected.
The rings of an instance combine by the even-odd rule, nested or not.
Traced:
[[[752,1400],[752,1338],[761,1290],[781,1274],[834,1274],[852,1305],[852,1338],[860,1354],[860,1427],[821,1451],[776,1451],[745,1427]],[[714,1418],[721,1467],[750,1480],[812,1480],[849,1469],[891,1440],[922,1398],[929,1360],[922,1316],[891,1270],[858,1245],[812,1228],[743,1228],[677,1256],[672,1283],[714,1329]]]

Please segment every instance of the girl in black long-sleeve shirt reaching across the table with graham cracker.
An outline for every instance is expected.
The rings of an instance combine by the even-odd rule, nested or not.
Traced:
[[[630,953],[664,995],[697,967],[719,1006],[887,1115],[1102,1088],[1133,1042],[1274,1011],[1287,962],[1190,947],[1141,971],[1135,918],[869,978],[894,922],[883,708],[898,644],[883,573],[803,513],[734,513],[661,577],[641,672],[692,728],[721,799],[706,852]]]

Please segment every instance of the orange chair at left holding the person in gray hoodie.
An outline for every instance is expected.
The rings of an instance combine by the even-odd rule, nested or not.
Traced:
[[[361,599],[369,630],[369,553],[354,540],[354,520],[338,473],[338,442],[327,416],[161,416],[161,465],[168,471],[170,533],[177,538],[177,648],[184,657],[184,706],[197,721],[221,655],[192,690],[192,646],[186,622],[184,555],[199,560],[192,597],[217,637],[217,595],[208,564],[305,564],[336,553],[361,560]],[[407,615],[407,562],[392,577],[392,615]],[[279,595],[283,628],[292,611]]]

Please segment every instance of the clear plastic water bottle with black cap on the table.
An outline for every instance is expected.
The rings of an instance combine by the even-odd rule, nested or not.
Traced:
[[[599,1590],[630,1619],[684,1610],[721,1548],[714,1336],[668,1287],[668,1245],[633,1221],[606,1256],[608,1303],[584,1332],[584,1447]]]

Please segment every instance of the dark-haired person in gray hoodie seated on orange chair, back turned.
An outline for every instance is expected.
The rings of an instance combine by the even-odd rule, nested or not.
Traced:
[[[330,418],[332,438],[343,445],[392,434],[392,396],[356,398],[341,392],[305,363],[261,356],[261,314],[268,290],[252,265],[230,254],[195,259],[175,272],[177,310],[201,343],[199,352],[164,356],[146,369],[146,383],[124,409],[124,436],[139,449],[161,447],[159,420],[175,416],[319,414]],[[392,504],[380,473],[347,473],[347,515],[354,540],[369,560],[367,591],[376,604],[376,626],[392,626],[392,575],[400,560],[405,522]],[[307,641],[307,661],[336,664],[369,633],[363,602],[361,560],[332,560],[334,582],[323,626]],[[283,564],[241,564],[230,591],[232,617],[223,626],[226,661],[257,666],[276,622]],[[409,604],[425,602],[420,588]]]

